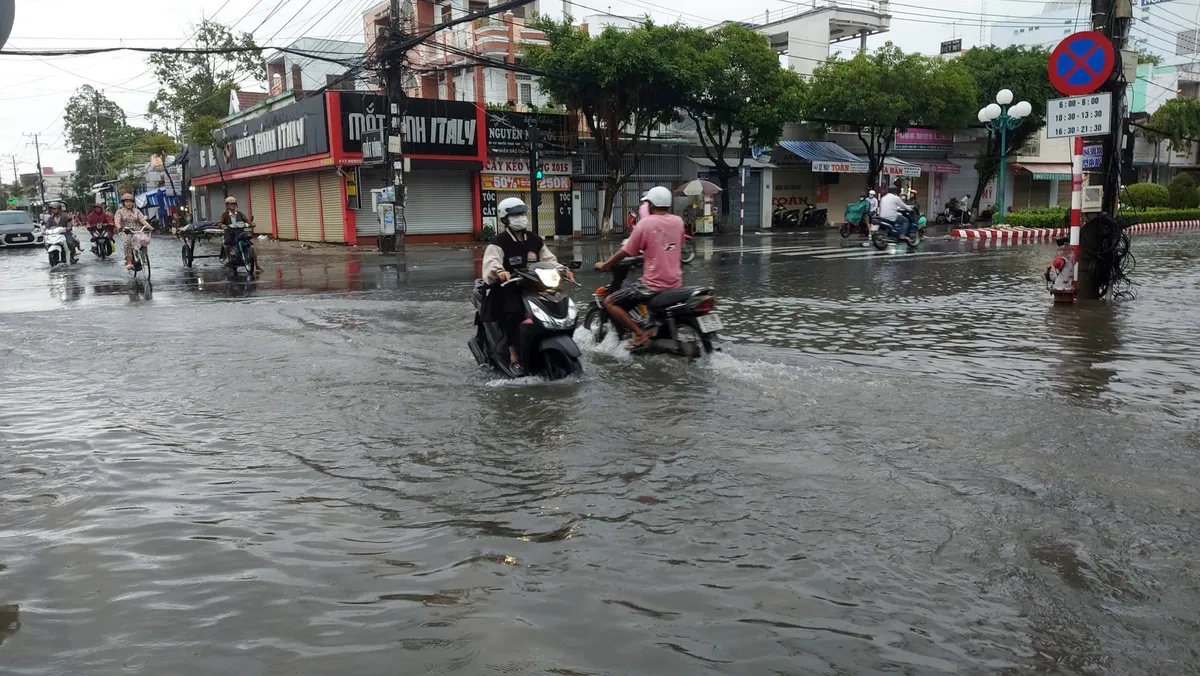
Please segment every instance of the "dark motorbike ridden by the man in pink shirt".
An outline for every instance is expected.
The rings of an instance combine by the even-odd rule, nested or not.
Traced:
[[[604,299],[619,289],[631,270],[642,267],[641,256],[631,256],[612,267],[612,281],[594,294],[594,305],[583,319],[583,328],[592,333],[593,340],[604,342],[608,331],[616,330],[619,340],[631,337],[629,330],[612,321],[604,309]],[[635,307],[629,316],[650,335],[646,352],[676,354],[696,359],[712,353],[713,340],[725,329],[721,317],[714,309],[716,295],[712,287],[694,286],[666,291],[654,297],[650,303]]]

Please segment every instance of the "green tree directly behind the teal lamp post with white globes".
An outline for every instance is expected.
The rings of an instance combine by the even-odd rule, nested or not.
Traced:
[[[972,116],[979,108],[994,103],[1001,89],[1013,92],[1013,101],[1028,101],[1033,107],[1021,126],[1008,132],[1008,154],[1015,152],[1031,138],[1037,137],[1046,124],[1046,100],[1057,98],[1054,85],[1050,84],[1048,64],[1050,52],[1036,47],[976,47],[967,49],[956,59],[974,77],[977,92],[972,100]],[[988,139],[976,160],[979,174],[971,208],[979,211],[979,198],[983,191],[1000,172],[1000,134],[988,132]]]

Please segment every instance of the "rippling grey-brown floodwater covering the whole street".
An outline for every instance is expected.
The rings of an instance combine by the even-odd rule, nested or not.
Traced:
[[[1200,234],[1115,306],[840,246],[702,241],[721,353],[554,384],[478,251],[0,251],[0,672],[1200,672]]]

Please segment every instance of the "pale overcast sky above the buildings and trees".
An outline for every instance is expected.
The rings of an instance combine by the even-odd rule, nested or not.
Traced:
[[[203,17],[253,30],[259,44],[283,46],[300,36],[361,41],[361,13],[378,0],[17,0],[17,20],[7,49],[60,49],[101,46],[180,47],[191,36],[191,25]],[[818,0],[823,4],[828,0]],[[866,0],[841,0],[841,5]],[[1027,16],[1040,11],[1039,0],[991,0],[988,18]],[[761,22],[803,11],[811,2],[745,0],[731,16],[726,0],[584,0],[575,4],[576,17],[599,12],[622,16],[650,14],[659,22],[691,24],[725,19]],[[541,8],[562,14],[562,2],[542,0]],[[272,14],[274,12],[274,14]],[[978,42],[979,0],[894,0],[892,31],[875,37],[875,47],[892,40],[905,50],[926,54],[955,34],[964,46]],[[959,25],[954,25],[959,24]],[[71,94],[91,84],[116,101],[131,124],[149,126],[144,114],[157,90],[145,54],[113,53],[90,56],[40,59],[0,56],[0,171],[12,180],[11,155],[20,172],[34,171],[34,145],[23,134],[38,133],[43,166],[73,169],[74,157],[62,137],[62,109]],[[244,89],[263,90],[263,83]]]

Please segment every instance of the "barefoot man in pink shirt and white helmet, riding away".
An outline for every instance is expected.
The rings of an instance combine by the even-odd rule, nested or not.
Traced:
[[[607,270],[628,256],[641,255],[642,279],[605,297],[604,306],[608,315],[632,331],[634,342],[630,349],[646,347],[650,336],[629,316],[629,311],[642,303],[649,303],[655,294],[683,286],[683,219],[668,213],[671,209],[671,191],[652,187],[643,204],[649,205],[649,215],[643,216],[629,235],[625,244],[612,258],[596,263],[596,270]]]

